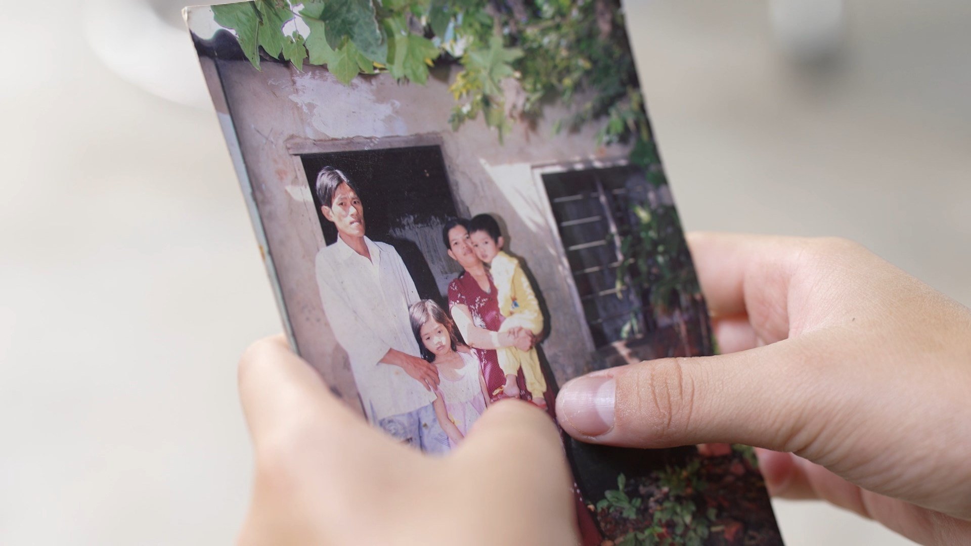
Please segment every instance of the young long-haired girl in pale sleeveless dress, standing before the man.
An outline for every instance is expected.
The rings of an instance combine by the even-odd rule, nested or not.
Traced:
[[[412,330],[421,356],[438,368],[438,399],[432,405],[439,425],[455,447],[485,411],[485,379],[479,358],[459,353],[455,325],[437,303],[424,299],[411,307]]]

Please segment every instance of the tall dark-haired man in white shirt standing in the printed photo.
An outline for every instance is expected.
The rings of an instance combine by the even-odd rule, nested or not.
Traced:
[[[337,242],[317,255],[323,311],[351,359],[364,412],[372,423],[426,453],[449,450],[435,417],[438,370],[419,358],[408,308],[419,301],[408,269],[394,247],[364,236],[364,208],[341,171],[317,177],[324,218]]]

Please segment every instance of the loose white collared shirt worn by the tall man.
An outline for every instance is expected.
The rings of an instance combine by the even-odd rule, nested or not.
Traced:
[[[364,237],[371,259],[340,237],[317,254],[317,284],[327,322],[351,358],[354,383],[372,422],[435,400],[401,367],[381,362],[389,349],[419,357],[409,306],[419,301],[405,262],[385,243]]]

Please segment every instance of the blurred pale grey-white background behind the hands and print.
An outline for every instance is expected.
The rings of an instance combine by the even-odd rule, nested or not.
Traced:
[[[815,4],[628,2],[686,228],[854,238],[971,303],[971,4]],[[247,506],[236,360],[281,325],[178,20],[0,11],[5,545],[224,544]],[[907,543],[776,507],[792,546]]]

